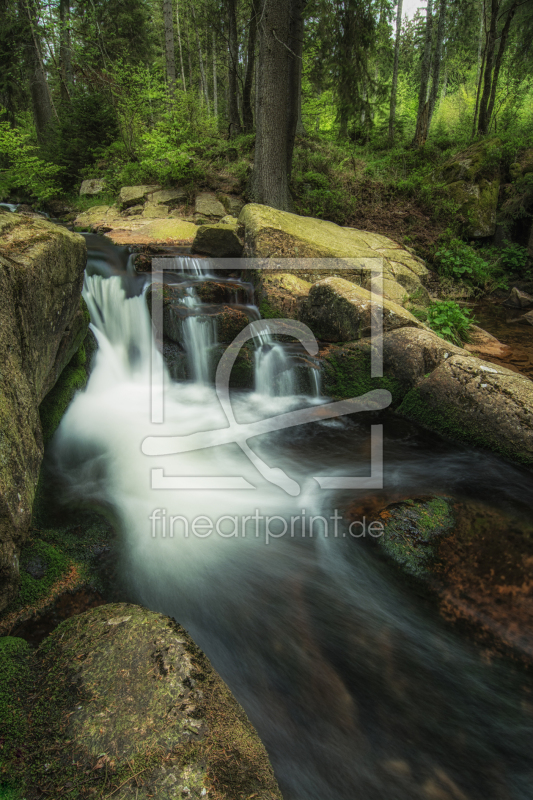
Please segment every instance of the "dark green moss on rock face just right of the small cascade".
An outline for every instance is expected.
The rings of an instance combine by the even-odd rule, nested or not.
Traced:
[[[338,348],[324,357],[324,394],[334,398],[359,397],[373,389],[386,389],[392,403],[400,402],[403,389],[396,378],[371,377],[371,349]]]

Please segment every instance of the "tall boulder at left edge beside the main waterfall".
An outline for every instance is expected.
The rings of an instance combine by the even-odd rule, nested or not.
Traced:
[[[0,610],[16,591],[43,457],[39,405],[87,333],[85,260],[79,234],[0,215]]]

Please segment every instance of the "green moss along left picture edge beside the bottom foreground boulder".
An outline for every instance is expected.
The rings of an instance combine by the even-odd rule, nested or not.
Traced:
[[[24,639],[14,636],[0,638],[0,720],[2,746],[0,747],[0,798],[18,797],[17,789],[1,781],[9,775],[7,764],[17,758],[25,748],[27,723],[24,696],[31,681],[31,648]]]

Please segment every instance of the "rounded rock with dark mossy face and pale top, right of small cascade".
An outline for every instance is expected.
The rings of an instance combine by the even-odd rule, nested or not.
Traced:
[[[302,304],[300,320],[325,342],[350,342],[370,336],[371,294],[344,278],[324,278],[313,284]],[[423,327],[409,311],[383,299],[383,330]]]

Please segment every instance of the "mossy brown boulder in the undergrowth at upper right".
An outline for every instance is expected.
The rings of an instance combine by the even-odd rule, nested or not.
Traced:
[[[454,200],[464,218],[463,234],[477,239],[493,236],[500,191],[499,163],[489,151],[501,140],[486,139],[455,155],[435,176],[443,181],[445,193]]]

